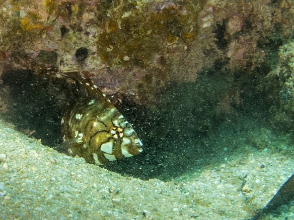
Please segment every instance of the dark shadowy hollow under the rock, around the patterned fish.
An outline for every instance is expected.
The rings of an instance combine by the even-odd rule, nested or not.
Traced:
[[[240,132],[238,118],[242,112],[251,111],[234,105],[227,109],[229,112],[220,111],[217,103],[232,89],[232,84],[236,84],[231,78],[214,71],[202,72],[196,82],[173,83],[161,90],[158,104],[149,108],[122,99],[116,107],[133,124],[143,142],[143,152],[104,167],[141,179],[169,180],[211,163],[208,160],[211,154],[224,152],[221,145],[207,148],[207,140],[215,132],[222,133],[219,130],[222,126],[228,132]],[[4,117],[25,134],[34,131],[30,136],[41,139],[44,145],[53,148],[60,145],[60,121],[72,85],[65,78],[53,77],[49,73],[36,75],[29,70],[7,72],[2,75],[2,80],[8,108]],[[251,105],[268,104],[258,101],[263,97],[252,95],[240,98],[250,100]],[[254,98],[257,99],[254,101]],[[268,107],[263,106],[262,112]],[[258,117],[258,106],[253,108],[256,112],[253,117]]]

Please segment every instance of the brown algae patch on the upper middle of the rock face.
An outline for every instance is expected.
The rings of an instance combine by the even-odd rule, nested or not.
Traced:
[[[194,40],[200,9],[200,3],[191,1],[180,6],[158,5],[156,10],[138,1],[114,3],[107,11],[108,16],[102,19],[102,31],[98,36],[101,59],[109,66],[149,64],[167,44]]]

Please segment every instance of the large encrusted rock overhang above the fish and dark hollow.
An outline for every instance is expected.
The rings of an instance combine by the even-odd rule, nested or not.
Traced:
[[[0,5],[2,72],[77,70],[106,93],[144,105],[171,82],[196,80],[201,70],[254,72],[294,25],[294,3],[285,0]]]

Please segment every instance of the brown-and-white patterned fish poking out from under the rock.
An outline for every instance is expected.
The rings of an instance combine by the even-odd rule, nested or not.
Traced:
[[[142,152],[143,144],[132,125],[90,79],[78,72],[62,75],[71,80],[76,90],[61,119],[69,155],[102,165]]]

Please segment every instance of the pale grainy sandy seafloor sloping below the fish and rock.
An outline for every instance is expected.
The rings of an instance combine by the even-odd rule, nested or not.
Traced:
[[[0,219],[247,219],[294,169],[287,154],[248,152],[185,181],[146,181],[58,153],[0,121]],[[266,219],[294,219],[293,209]]]

